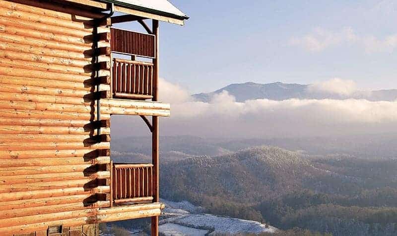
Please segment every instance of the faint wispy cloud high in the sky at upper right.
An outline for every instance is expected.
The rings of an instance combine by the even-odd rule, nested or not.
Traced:
[[[393,52],[397,47],[397,34],[379,39],[371,35],[358,35],[349,27],[336,31],[316,28],[304,36],[293,37],[289,40],[289,44],[303,47],[311,52],[320,52],[340,45],[360,46],[367,53]]]

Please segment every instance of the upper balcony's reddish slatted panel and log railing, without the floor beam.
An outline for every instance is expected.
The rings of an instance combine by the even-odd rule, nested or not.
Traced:
[[[111,28],[110,33],[111,52],[128,55],[133,59],[113,58],[113,98],[152,99],[157,75],[154,66],[157,60],[155,36],[117,28]],[[148,58],[151,62],[137,61],[135,58]]]

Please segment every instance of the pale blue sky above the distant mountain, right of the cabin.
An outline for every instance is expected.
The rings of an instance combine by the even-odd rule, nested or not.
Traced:
[[[397,87],[392,0],[172,2],[191,19],[161,24],[160,76],[191,92],[332,78],[362,89]]]

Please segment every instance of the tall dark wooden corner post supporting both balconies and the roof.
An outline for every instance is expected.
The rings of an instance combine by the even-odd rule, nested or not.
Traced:
[[[158,20],[152,21],[152,32],[155,35],[155,58],[153,59],[153,101],[158,101],[158,64],[159,64],[159,29]],[[153,163],[153,202],[159,202],[159,126],[158,116],[152,118],[152,163]],[[151,235],[158,236],[158,216],[151,218]]]

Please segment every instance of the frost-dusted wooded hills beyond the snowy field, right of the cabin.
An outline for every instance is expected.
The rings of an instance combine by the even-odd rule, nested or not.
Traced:
[[[397,234],[397,160],[309,158],[274,147],[166,161],[162,197],[279,229]]]

